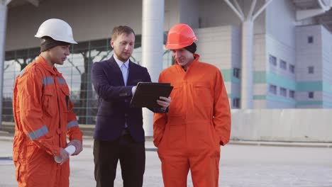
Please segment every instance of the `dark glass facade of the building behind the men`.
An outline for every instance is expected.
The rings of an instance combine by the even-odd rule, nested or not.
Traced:
[[[165,47],[164,47],[165,49]],[[2,120],[13,122],[13,86],[15,79],[27,64],[40,54],[40,47],[6,52],[4,62],[4,88]],[[74,103],[79,124],[94,125],[98,108],[98,96],[91,81],[91,67],[95,62],[107,60],[113,55],[109,39],[89,40],[72,45],[70,55],[63,65],[56,65],[70,87],[70,97]],[[131,61],[142,63],[141,36],[135,37],[135,49]],[[165,50],[163,68],[172,64],[172,55]]]

